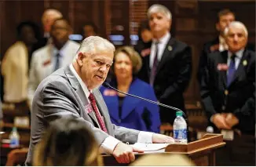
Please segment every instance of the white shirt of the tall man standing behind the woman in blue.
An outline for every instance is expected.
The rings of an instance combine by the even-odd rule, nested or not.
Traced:
[[[163,56],[164,49],[166,48],[167,43],[170,40],[170,32],[165,34],[162,38],[159,39],[158,44],[158,53],[157,53],[157,60],[160,61]],[[149,60],[149,67],[152,68],[154,59],[155,59],[155,42],[157,40],[153,38],[152,45],[151,45],[151,52],[150,52],[150,60]]]

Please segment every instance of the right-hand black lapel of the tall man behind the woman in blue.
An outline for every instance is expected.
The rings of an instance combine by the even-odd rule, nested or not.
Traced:
[[[170,40],[167,43],[166,48],[163,51],[163,56],[162,56],[158,66],[156,68],[156,74],[160,71],[161,67],[163,67],[163,64],[166,62],[166,60],[168,58],[170,58],[170,56],[171,56],[170,53],[174,49],[174,42],[175,42],[175,39],[170,37]]]

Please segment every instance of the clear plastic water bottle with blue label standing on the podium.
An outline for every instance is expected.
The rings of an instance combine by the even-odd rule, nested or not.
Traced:
[[[175,143],[188,143],[187,123],[182,117],[182,111],[176,112],[174,120],[174,141]]]

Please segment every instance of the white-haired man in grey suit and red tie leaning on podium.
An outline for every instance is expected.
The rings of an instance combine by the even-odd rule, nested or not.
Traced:
[[[120,163],[133,162],[132,146],[123,143],[173,143],[170,136],[126,129],[111,123],[108,108],[98,87],[112,66],[115,46],[108,40],[84,39],[68,67],[50,74],[35,92],[31,112],[31,140],[26,164],[31,163],[35,144],[49,122],[73,115],[93,131],[101,151],[113,154]]]

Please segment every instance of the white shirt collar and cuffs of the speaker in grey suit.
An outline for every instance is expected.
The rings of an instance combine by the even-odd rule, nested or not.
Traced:
[[[78,79],[79,81],[79,84],[82,86],[82,90],[83,90],[83,93],[85,93],[86,95],[86,99],[88,100],[88,102],[90,103],[90,100],[89,100],[89,96],[90,96],[90,93],[92,92],[91,90],[88,90],[87,89],[87,86],[84,82],[82,82],[82,79],[79,77],[79,74],[77,74],[77,72],[75,71],[75,68],[73,67],[72,64],[70,64],[70,70],[73,74],[75,74],[75,78]],[[94,112],[93,112],[94,114]],[[99,123],[97,122],[97,125],[98,127],[101,127],[99,125]],[[138,143],[152,143],[152,136],[153,136],[154,133],[148,133],[148,132],[143,132],[141,131],[139,134],[138,134],[138,138],[137,138],[137,142]],[[115,149],[115,146],[121,142],[120,140],[117,140],[115,139],[115,137],[113,136],[108,136],[103,143],[101,143],[101,151],[104,151],[105,153],[109,153],[109,154],[112,154],[114,149]]]

